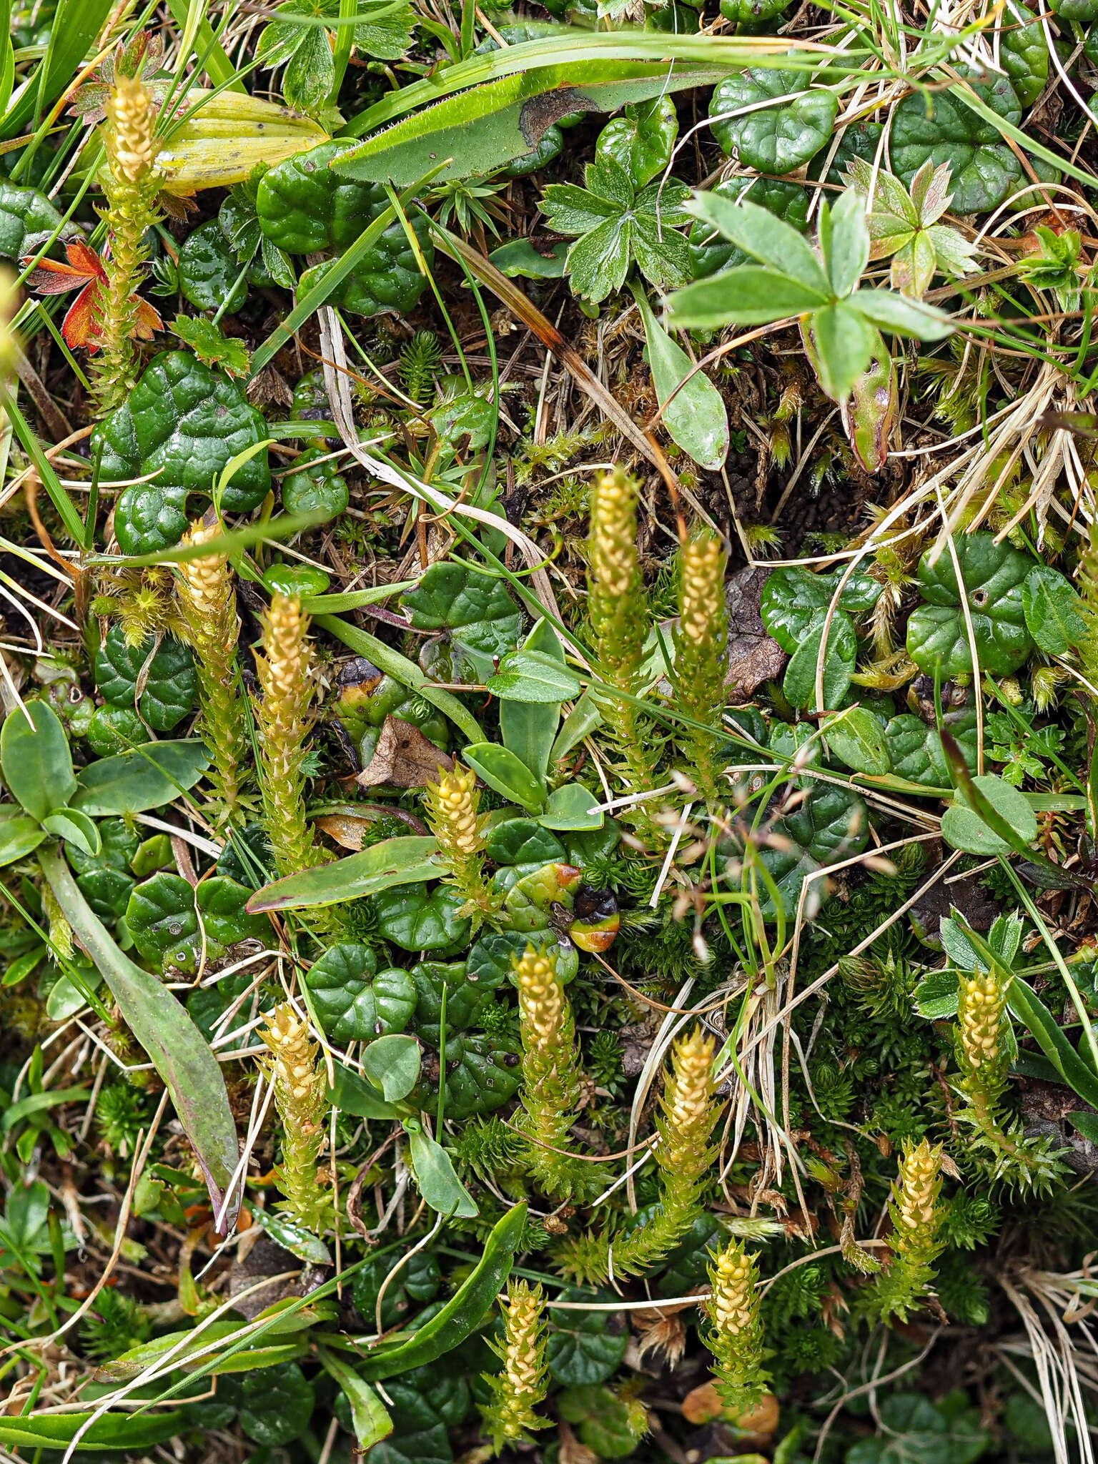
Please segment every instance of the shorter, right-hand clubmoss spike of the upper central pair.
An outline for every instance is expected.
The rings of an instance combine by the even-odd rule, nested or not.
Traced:
[[[726,564],[728,552],[710,529],[698,530],[679,550],[675,697],[679,712],[703,723],[684,726],[681,741],[691,757],[690,773],[709,801],[717,793],[716,748],[728,671]]]

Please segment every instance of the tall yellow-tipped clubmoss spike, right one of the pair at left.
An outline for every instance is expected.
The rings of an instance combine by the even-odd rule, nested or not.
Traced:
[[[303,764],[316,688],[307,631],[309,616],[300,599],[275,591],[262,619],[262,654],[255,659],[262,688],[255,717],[264,827],[280,874],[305,870],[322,858],[305,813]]]

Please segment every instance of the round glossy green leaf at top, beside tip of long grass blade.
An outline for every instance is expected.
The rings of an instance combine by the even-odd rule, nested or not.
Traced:
[[[725,152],[735,151],[741,163],[760,173],[792,173],[802,167],[832,136],[839,111],[834,92],[810,88],[808,81],[805,72],[763,66],[729,76],[709,104],[710,117],[722,119],[713,122],[713,136]],[[728,116],[767,101],[776,105]]]

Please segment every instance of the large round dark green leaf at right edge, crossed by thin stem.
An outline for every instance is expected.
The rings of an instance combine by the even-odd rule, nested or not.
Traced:
[[[955,540],[965,584],[972,632],[982,671],[1009,676],[1032,650],[1022,600],[1022,584],[1034,568],[1029,555],[1009,543],[997,545],[991,534],[959,534]],[[960,609],[960,591],[949,552],[931,564],[928,549],[919,561],[919,605],[908,621],[908,654],[928,675],[941,668],[943,678],[972,671],[968,628]]]

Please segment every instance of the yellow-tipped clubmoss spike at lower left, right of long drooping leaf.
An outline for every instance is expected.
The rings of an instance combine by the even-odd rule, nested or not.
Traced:
[[[283,1162],[275,1180],[294,1220],[315,1231],[329,1203],[329,1192],[316,1176],[328,1114],[324,1063],[309,1023],[288,1001],[275,1007],[266,1022],[261,1037],[274,1054],[266,1069],[283,1123]]]

